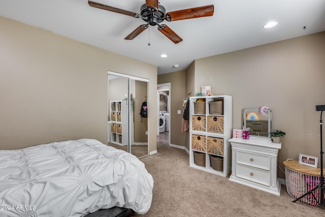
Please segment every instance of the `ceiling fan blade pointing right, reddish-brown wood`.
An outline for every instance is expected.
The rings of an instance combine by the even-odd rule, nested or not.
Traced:
[[[167,21],[175,20],[185,20],[198,17],[209,17],[212,16],[214,12],[213,5],[201,6],[197,8],[189,8],[179,11],[168,12],[165,14],[165,19]]]

